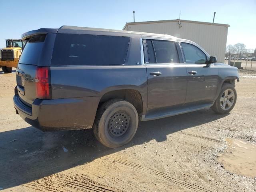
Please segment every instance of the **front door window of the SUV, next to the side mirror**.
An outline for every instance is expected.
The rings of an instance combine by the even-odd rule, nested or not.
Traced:
[[[181,45],[185,54],[186,63],[206,63],[206,55],[199,48],[188,43],[181,43]]]

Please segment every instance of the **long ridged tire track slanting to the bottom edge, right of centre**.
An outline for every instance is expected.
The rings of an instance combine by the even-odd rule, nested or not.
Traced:
[[[126,166],[130,166],[132,168],[135,168],[135,169],[138,169],[138,170],[142,170],[148,174],[152,174],[152,175],[156,175],[156,176],[160,176],[162,178],[164,178],[165,180],[168,180],[174,184],[177,184],[178,186],[181,186],[181,187],[184,187],[184,188],[188,188],[190,190],[193,190],[193,191],[196,191],[196,192],[212,192],[208,189],[205,189],[203,187],[200,187],[200,186],[197,186],[195,184],[192,184],[190,182],[184,182],[182,180],[178,180],[176,178],[173,178],[172,176],[168,175],[168,174],[165,174],[163,172],[160,172],[158,170],[154,170],[152,168],[147,168],[145,166],[142,166],[140,164],[136,164],[136,163],[133,163],[133,162],[129,162],[127,160],[121,160],[121,159],[118,159],[118,158],[113,158],[113,157],[110,157],[112,158],[113,160],[116,160],[117,162],[121,163],[121,164],[124,164]]]

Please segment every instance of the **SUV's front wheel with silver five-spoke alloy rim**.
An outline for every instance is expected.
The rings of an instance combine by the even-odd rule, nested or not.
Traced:
[[[226,114],[234,108],[235,104],[236,90],[232,84],[225,83],[211,109],[218,114]]]

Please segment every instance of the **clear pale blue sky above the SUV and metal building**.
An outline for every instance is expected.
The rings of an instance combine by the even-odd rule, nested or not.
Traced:
[[[228,44],[256,48],[256,0],[0,0],[0,48],[5,39],[62,25],[122,30],[126,22],[181,19],[229,24]]]

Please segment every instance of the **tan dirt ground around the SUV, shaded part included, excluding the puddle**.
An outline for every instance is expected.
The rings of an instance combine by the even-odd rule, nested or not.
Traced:
[[[230,114],[206,109],[141,122],[132,142],[116,149],[102,146],[92,130],[41,132],[24,122],[12,104],[15,81],[0,70],[2,191],[256,191],[256,178],[218,162],[226,138],[256,143],[254,72],[240,72]]]

